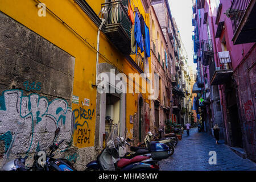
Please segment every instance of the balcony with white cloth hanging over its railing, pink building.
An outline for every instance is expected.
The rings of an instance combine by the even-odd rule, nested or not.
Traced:
[[[229,81],[233,74],[232,62],[229,56],[229,51],[218,52],[220,57],[220,67],[216,67],[215,71],[212,72],[210,68],[210,85],[222,85]]]

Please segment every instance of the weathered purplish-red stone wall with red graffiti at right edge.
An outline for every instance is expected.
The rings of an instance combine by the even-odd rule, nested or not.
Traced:
[[[251,160],[256,161],[256,47],[234,72],[238,83],[242,118],[243,147]]]

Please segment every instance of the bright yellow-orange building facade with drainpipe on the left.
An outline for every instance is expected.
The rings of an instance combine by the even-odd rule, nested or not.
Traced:
[[[39,6],[39,3],[44,3],[46,9],[44,6]],[[104,30],[100,31],[99,39],[97,38],[101,23],[99,20],[102,18],[98,15],[102,9],[102,3],[105,1],[0,0],[0,13],[3,16],[15,20],[21,26],[28,28],[75,59],[72,95],[68,96],[68,103],[71,103],[69,107],[72,108],[74,120],[72,146],[69,148],[76,148],[76,160],[72,160],[72,162],[75,162],[76,166],[83,163],[80,165],[80,169],[84,168],[89,160],[95,158],[96,151],[100,151],[104,147],[105,135],[102,134],[105,133],[105,115],[110,107],[106,108],[105,114],[101,113],[101,108],[106,107],[104,102],[107,101],[108,97],[111,101],[112,96],[102,96],[97,92],[96,74],[110,72],[106,69],[112,68],[115,73],[124,73],[126,76],[129,73],[138,73],[139,75],[145,72],[145,65],[148,67],[147,73],[151,73],[150,57],[146,59],[147,62],[143,62],[143,68],[139,67],[138,56],[124,56],[106,36]],[[131,9],[139,11],[147,27],[150,27],[149,16],[145,13],[141,1],[131,0]],[[99,40],[98,73],[96,73],[97,40]],[[141,53],[139,50],[138,52]],[[141,56],[144,60],[144,53],[141,53]],[[48,75],[45,77],[47,78]],[[63,81],[65,82],[65,80],[60,80],[60,82],[55,83],[57,88],[65,89],[61,86]],[[139,93],[135,93],[136,84],[139,85]],[[128,82],[127,88],[129,86],[131,84]],[[121,94],[119,105],[113,105],[113,108],[119,107],[119,115],[115,114],[115,117],[120,118],[120,130],[122,130],[120,133],[123,137],[135,138],[139,136],[142,138],[146,127],[143,123],[148,119],[147,114],[149,114],[150,109],[148,93],[142,93],[142,82],[133,81],[133,86],[134,93]],[[39,95],[45,96],[43,93],[39,93]],[[48,100],[50,101],[51,98]],[[109,112],[111,112],[111,108]],[[102,123],[103,121],[104,123]],[[68,155],[74,154],[71,152]],[[64,156],[70,159],[65,154]]]

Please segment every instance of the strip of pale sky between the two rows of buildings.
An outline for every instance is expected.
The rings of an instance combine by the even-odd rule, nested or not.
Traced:
[[[193,70],[196,70],[196,64],[193,63],[192,0],[168,0],[168,2],[188,54],[188,65],[192,65]]]

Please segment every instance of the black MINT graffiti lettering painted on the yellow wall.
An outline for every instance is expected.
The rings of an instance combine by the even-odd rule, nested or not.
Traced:
[[[86,147],[90,143],[91,129],[89,121],[94,117],[94,109],[74,109],[73,114],[75,117],[75,130],[74,130],[74,143],[77,147]]]

